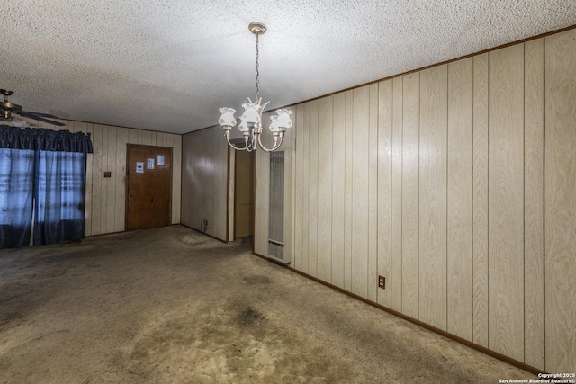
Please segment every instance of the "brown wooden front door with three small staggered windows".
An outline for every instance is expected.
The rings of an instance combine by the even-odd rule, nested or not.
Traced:
[[[126,230],[172,221],[172,148],[128,145]]]

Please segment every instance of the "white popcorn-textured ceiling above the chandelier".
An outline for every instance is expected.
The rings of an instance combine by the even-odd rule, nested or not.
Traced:
[[[24,110],[185,133],[576,24],[573,0],[21,0],[0,12],[0,88]]]

